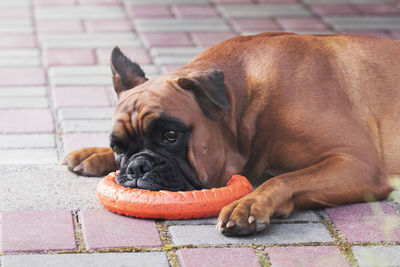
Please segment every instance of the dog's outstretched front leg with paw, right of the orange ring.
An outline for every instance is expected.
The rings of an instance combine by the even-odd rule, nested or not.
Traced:
[[[271,178],[227,205],[219,215],[217,229],[224,235],[252,234],[262,231],[274,214],[289,214],[294,208],[381,200],[391,191],[383,166],[371,167],[351,156],[332,156]]]

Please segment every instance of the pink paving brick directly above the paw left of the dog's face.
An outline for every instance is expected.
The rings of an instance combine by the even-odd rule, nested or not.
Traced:
[[[63,134],[61,138],[65,153],[83,147],[108,147],[110,145],[108,133],[71,133]]]

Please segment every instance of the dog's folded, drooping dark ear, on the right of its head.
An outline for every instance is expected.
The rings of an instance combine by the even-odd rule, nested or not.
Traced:
[[[219,120],[224,110],[231,109],[224,73],[221,70],[193,72],[184,78],[179,78],[177,83],[183,89],[193,92],[204,115],[211,120]]]

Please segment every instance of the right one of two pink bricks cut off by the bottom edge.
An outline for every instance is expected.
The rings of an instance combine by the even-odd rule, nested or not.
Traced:
[[[272,266],[350,266],[340,250],[334,246],[272,247],[265,249]]]

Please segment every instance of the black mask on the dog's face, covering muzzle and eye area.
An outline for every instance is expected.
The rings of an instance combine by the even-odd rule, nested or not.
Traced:
[[[153,191],[205,188],[186,157],[189,134],[183,123],[168,117],[155,119],[139,137],[121,138],[112,133],[110,145],[120,170],[115,181]]]

